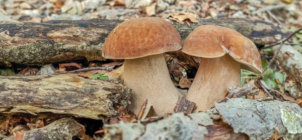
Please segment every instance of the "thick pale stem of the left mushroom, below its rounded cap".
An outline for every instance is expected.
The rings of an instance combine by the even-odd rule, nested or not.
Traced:
[[[123,77],[132,89],[129,109],[135,114],[146,99],[158,115],[174,112],[180,94],[170,79],[164,54],[125,59]]]

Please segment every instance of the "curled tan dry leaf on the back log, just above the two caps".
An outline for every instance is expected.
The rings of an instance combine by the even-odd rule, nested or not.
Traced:
[[[193,14],[193,13],[187,13],[187,12],[170,13],[170,14],[164,15],[163,18],[168,18],[168,19],[176,21],[178,23],[183,23],[185,21],[192,22],[192,23],[198,23],[198,21],[197,21],[198,15]]]

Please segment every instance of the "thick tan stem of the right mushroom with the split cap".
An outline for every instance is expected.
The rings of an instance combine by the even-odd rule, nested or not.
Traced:
[[[196,103],[194,112],[206,111],[225,97],[226,88],[241,85],[240,63],[229,54],[202,58],[186,99]]]

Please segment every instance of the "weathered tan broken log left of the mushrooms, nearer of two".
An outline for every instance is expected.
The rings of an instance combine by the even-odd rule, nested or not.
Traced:
[[[131,90],[118,82],[84,79],[73,74],[0,77],[0,112],[52,112],[105,119],[125,107]]]

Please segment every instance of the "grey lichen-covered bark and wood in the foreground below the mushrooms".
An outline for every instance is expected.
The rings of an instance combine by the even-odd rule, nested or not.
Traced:
[[[301,139],[301,121],[297,104],[234,98],[207,112],[105,125],[104,139]]]

